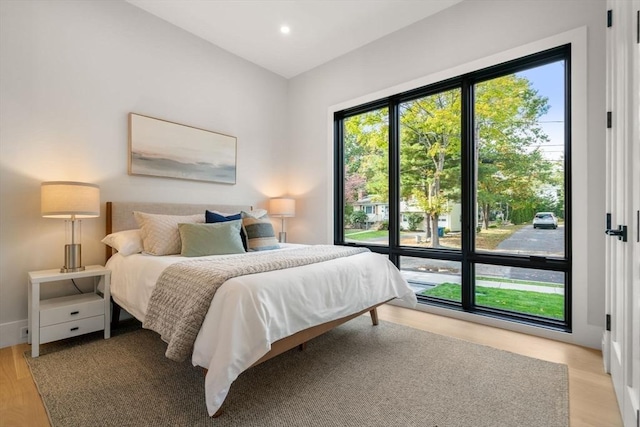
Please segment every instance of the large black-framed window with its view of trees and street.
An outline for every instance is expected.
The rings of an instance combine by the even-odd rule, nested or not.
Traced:
[[[419,301],[571,327],[570,45],[335,114],[335,243]]]

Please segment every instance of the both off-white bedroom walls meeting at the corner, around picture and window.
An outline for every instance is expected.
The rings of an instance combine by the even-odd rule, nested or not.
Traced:
[[[39,215],[42,181],[97,183],[103,202],[261,205],[288,193],[297,198],[289,240],[330,242],[331,108],[578,27],[586,27],[587,69],[575,106],[583,111],[575,124],[583,137],[574,135],[574,208],[583,208],[574,217],[574,333],[458,315],[599,346],[604,14],[602,0],[466,0],[287,82],[124,2],[2,0],[0,347],[26,326],[26,272],[63,263],[63,225]],[[131,111],[237,136],[238,183],[128,176]],[[104,217],[84,221],[85,264],[103,262],[103,230]]]

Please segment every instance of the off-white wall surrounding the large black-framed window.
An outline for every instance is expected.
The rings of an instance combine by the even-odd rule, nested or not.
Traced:
[[[604,320],[604,79],[605,2],[601,0],[466,0],[289,84],[289,193],[300,195],[289,231],[297,241],[331,242],[331,111],[357,105],[393,88],[407,90],[459,75],[488,57],[582,27],[576,57],[573,134],[573,333],[493,321],[441,310],[509,329],[599,347]],[[582,36],[580,36],[582,34]],[[493,64],[484,64],[488,66]],[[470,71],[470,70],[467,70]],[[424,310],[435,309],[422,307]]]

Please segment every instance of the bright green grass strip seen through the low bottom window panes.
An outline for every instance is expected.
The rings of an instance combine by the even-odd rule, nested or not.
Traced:
[[[460,301],[460,285],[443,283],[420,295]],[[564,296],[557,294],[476,286],[476,304],[558,320],[564,318]]]

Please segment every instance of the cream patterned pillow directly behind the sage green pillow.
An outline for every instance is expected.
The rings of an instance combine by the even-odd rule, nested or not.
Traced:
[[[204,212],[196,215],[159,215],[133,212],[140,227],[144,252],[150,255],[175,255],[182,249],[178,224],[204,223]]]

